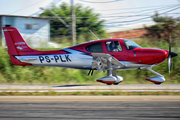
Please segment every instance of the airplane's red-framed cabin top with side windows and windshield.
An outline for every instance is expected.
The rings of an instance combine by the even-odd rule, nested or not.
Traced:
[[[83,43],[72,48],[79,51],[85,50],[84,52],[123,52],[141,48],[141,46],[127,39],[105,39]]]

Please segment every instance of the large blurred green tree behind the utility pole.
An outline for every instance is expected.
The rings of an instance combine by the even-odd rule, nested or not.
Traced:
[[[100,20],[100,14],[93,13],[93,9],[89,7],[83,7],[81,4],[76,4],[74,6],[76,13],[76,35],[77,38],[80,35],[88,36],[91,34],[89,30],[92,30],[99,36],[104,36],[105,31],[103,30],[103,22],[104,20]],[[62,3],[59,7],[55,5],[50,9],[55,12],[58,16],[60,16],[69,26],[71,26],[71,6],[67,3]],[[54,17],[54,15],[50,12],[50,10],[45,10],[40,16],[50,16]],[[65,27],[63,23],[61,23],[58,19],[50,20],[50,33],[51,37],[55,36],[70,36],[71,29]]]

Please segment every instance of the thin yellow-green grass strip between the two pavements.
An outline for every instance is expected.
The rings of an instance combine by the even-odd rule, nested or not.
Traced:
[[[91,91],[91,92],[1,92],[0,96],[60,96],[60,95],[180,95],[180,92],[123,92],[123,91]]]

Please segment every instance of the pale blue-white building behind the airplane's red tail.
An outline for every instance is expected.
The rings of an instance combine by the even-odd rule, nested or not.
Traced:
[[[46,47],[50,41],[50,24],[47,18],[0,15],[0,29],[5,26],[16,27],[30,47]],[[3,31],[0,36],[2,46],[6,46]]]

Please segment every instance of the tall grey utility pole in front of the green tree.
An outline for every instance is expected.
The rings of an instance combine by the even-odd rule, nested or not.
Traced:
[[[72,37],[72,44],[76,44],[76,15],[74,11],[74,0],[71,0],[71,37]]]

